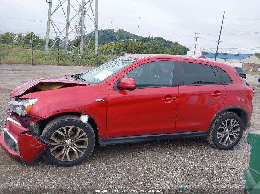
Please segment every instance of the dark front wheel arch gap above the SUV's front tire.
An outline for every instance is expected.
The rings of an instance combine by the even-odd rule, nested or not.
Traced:
[[[52,115],[52,116],[50,116],[50,117],[48,117],[46,119],[40,120],[40,121],[38,121],[39,127],[40,127],[40,133],[42,134],[43,129],[46,127],[46,125],[48,123],[50,123],[50,121],[54,120],[55,118],[57,118],[59,116],[76,115],[76,116],[80,117],[81,114],[82,114],[82,112],[62,112],[62,113],[58,113],[58,114]],[[90,117],[89,120],[88,120],[88,123],[93,128],[95,136],[96,136],[96,140],[98,140],[99,139],[99,132],[98,132],[98,127],[97,127],[96,121],[92,117]]]

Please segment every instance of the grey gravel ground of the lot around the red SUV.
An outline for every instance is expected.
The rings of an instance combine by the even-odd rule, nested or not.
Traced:
[[[78,74],[91,68],[0,66],[0,126],[5,124],[7,102],[16,86],[34,78]],[[258,76],[248,75],[247,80],[258,89],[252,125],[232,150],[217,150],[203,138],[96,145],[84,163],[58,167],[44,158],[34,166],[22,165],[0,149],[0,188],[244,188],[243,169],[248,167],[251,150],[247,133],[260,131]]]

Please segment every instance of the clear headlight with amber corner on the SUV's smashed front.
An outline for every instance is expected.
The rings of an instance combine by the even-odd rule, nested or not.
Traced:
[[[16,112],[18,115],[27,115],[27,112],[37,102],[37,98],[22,99],[20,101],[8,102],[8,109]]]

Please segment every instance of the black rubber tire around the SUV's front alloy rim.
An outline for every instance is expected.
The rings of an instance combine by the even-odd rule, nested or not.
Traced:
[[[54,165],[58,165],[58,166],[77,165],[77,164],[85,161],[91,155],[92,151],[94,150],[95,141],[96,141],[94,130],[89,123],[86,123],[86,124],[82,123],[79,116],[65,115],[65,116],[60,116],[60,117],[55,118],[54,120],[50,121],[49,124],[46,125],[46,127],[42,131],[42,136],[45,137],[46,139],[50,140],[52,135],[54,133],[56,133],[56,131],[58,129],[61,129],[66,126],[74,126],[76,128],[81,129],[82,130],[81,134],[84,135],[84,133],[85,133],[87,136],[87,147],[84,150],[84,153],[80,153],[82,155],[79,158],[71,160],[71,161],[62,161],[60,159],[55,158],[54,155],[50,152],[50,149],[51,149],[51,147],[50,147],[50,149],[45,151],[44,157],[46,158],[46,160],[48,162],[50,162]],[[66,146],[66,143],[64,143],[64,144]],[[71,146],[73,146],[73,144],[71,144]],[[70,150],[72,148],[69,147],[68,149]]]

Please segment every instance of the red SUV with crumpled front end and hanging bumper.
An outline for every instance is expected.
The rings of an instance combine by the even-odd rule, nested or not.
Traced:
[[[233,148],[250,126],[253,91],[234,67],[202,58],[135,54],[85,74],[40,78],[15,88],[0,137],[14,159],[86,160],[101,146],[205,137]]]

